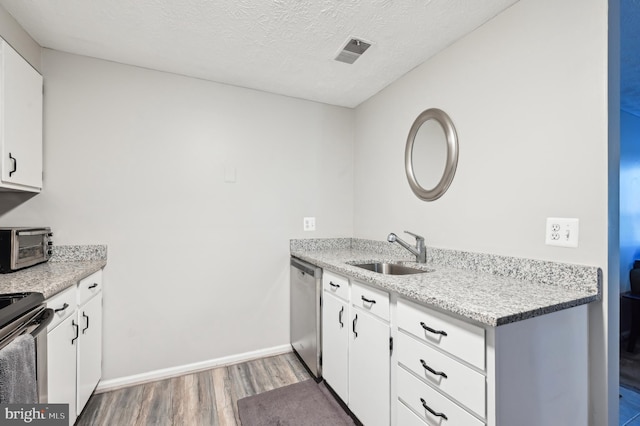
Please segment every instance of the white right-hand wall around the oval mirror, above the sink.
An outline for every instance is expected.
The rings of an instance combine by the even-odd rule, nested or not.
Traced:
[[[606,277],[607,6],[521,0],[360,105],[355,236],[406,229],[435,247],[595,265]],[[428,203],[403,160],[414,118],[431,107],[454,121],[460,158],[449,191]],[[545,245],[547,217],[579,218],[579,247]],[[605,293],[590,306],[594,425],[617,416],[607,412],[606,305]]]

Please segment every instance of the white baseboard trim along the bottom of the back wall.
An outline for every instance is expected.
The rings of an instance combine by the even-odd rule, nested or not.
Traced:
[[[291,352],[291,345],[273,346],[271,348],[260,349],[252,352],[230,355],[222,358],[210,359],[207,361],[194,362],[192,364],[180,365],[177,367],[163,368],[149,371],[147,373],[134,374],[133,376],[119,377],[117,379],[101,380],[96,387],[95,393],[113,391],[130,386],[141,385],[154,382],[156,380],[170,379],[184,374],[197,373],[198,371],[209,370],[215,367],[225,367],[227,365],[239,364],[267,356],[281,355]]]

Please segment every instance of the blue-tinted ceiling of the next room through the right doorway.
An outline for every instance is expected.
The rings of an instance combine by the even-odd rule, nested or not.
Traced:
[[[620,2],[620,105],[640,117],[640,0]]]

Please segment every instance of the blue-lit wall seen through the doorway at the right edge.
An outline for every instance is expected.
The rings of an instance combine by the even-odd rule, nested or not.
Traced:
[[[620,291],[640,259],[640,117],[620,112]]]

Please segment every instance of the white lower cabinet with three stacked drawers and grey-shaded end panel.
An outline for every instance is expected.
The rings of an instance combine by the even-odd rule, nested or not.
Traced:
[[[585,305],[483,327],[399,300],[395,323],[393,424],[588,424]]]

